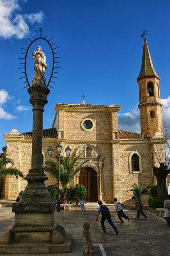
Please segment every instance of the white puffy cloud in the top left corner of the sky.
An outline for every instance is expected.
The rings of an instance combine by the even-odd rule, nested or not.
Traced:
[[[0,37],[16,36],[22,39],[29,33],[28,23],[41,23],[44,18],[42,11],[32,14],[17,14],[20,11],[19,0],[0,0]]]

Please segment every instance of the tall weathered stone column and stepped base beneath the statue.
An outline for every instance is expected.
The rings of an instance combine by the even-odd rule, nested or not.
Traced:
[[[64,244],[65,230],[54,220],[56,202],[52,201],[44,184],[48,178],[41,167],[43,112],[50,90],[32,86],[28,92],[33,106],[32,168],[25,177],[28,185],[20,201],[12,206],[14,226],[0,237],[0,254],[70,252],[72,235],[67,235],[67,246],[60,246]]]

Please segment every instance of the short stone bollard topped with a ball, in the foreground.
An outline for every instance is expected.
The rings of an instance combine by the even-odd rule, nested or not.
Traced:
[[[90,223],[85,222],[83,225],[84,231],[83,231],[83,237],[86,238],[86,247],[83,251],[83,256],[94,256],[94,251],[93,251],[93,244],[92,244],[92,238],[90,235]]]

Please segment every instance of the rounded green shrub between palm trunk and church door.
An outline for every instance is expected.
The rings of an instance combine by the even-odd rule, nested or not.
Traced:
[[[87,196],[87,189],[83,185],[76,184],[75,188],[70,190],[70,201],[76,205]]]

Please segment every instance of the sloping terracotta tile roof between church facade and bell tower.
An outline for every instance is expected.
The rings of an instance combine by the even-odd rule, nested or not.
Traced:
[[[127,131],[122,131],[122,130],[119,130],[118,134],[119,134],[118,135],[119,139],[123,139],[123,140],[149,140],[149,139],[151,139],[151,137],[149,137],[147,135],[138,134],[135,132],[127,132]]]

